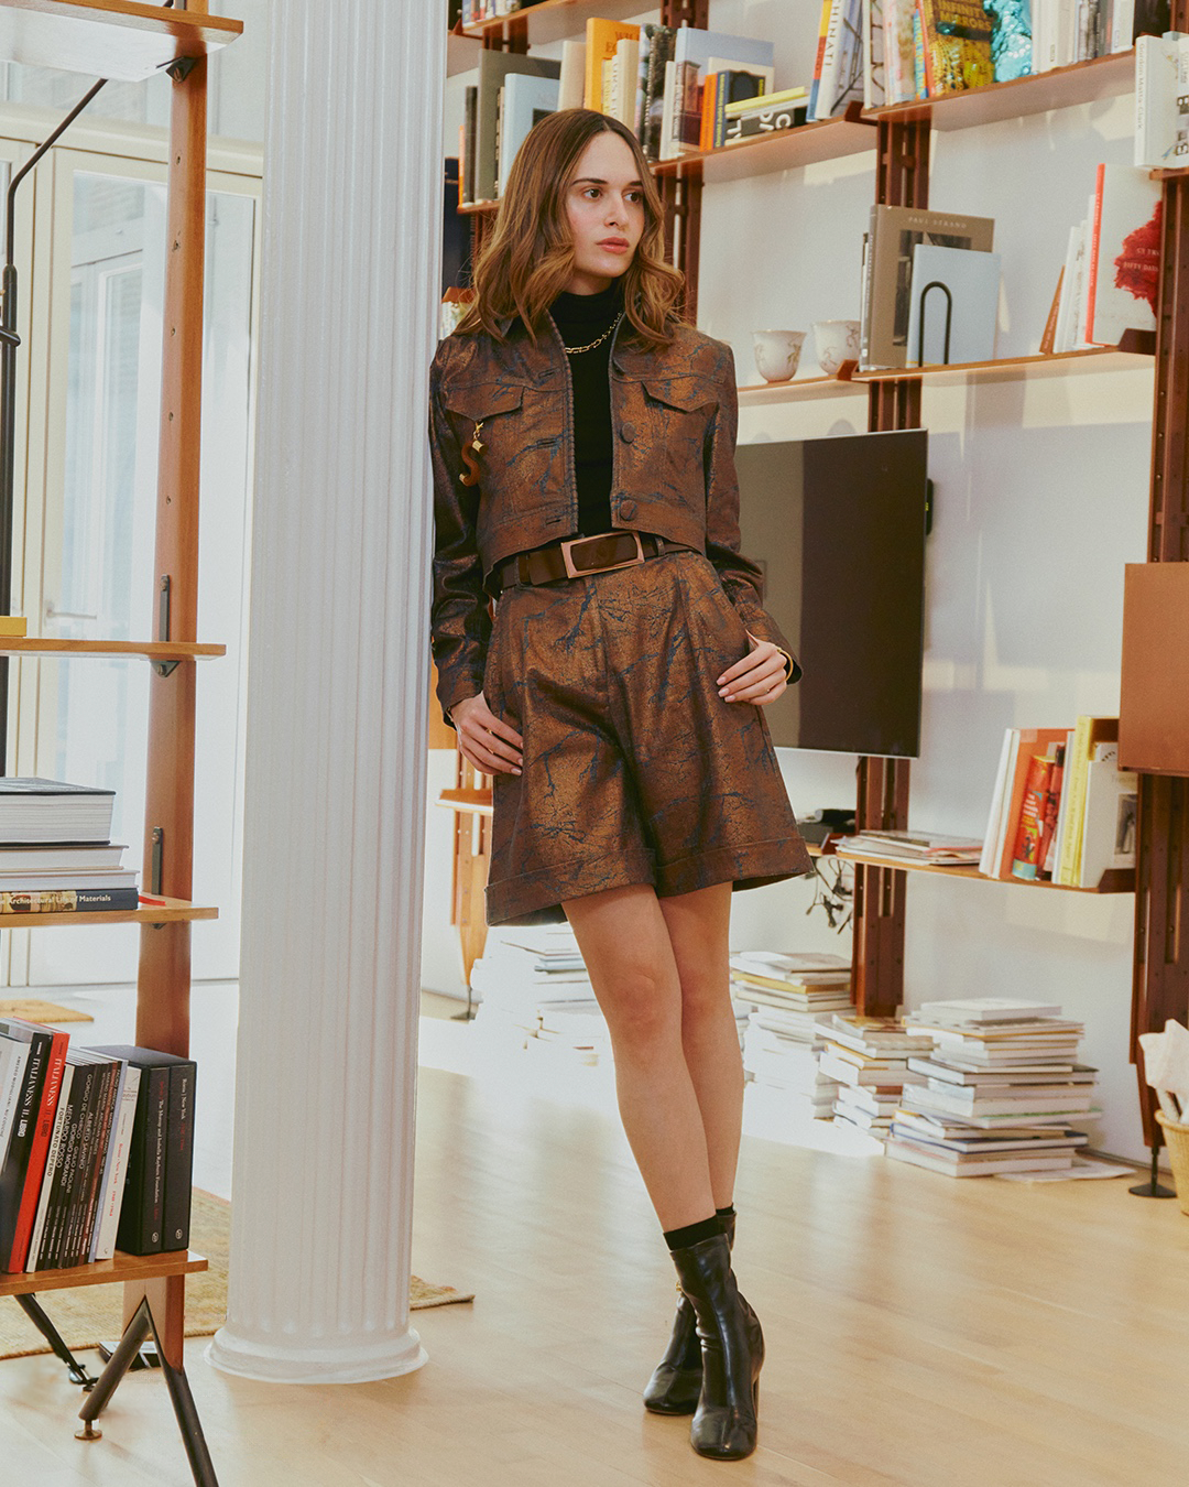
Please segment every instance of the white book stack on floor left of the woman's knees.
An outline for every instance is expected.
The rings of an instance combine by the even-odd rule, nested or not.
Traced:
[[[502,1047],[597,1065],[609,1056],[606,1022],[569,925],[498,928],[471,970],[476,1029]]]

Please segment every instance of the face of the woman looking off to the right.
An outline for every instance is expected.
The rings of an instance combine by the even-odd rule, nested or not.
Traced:
[[[626,274],[644,233],[644,186],[627,141],[609,129],[578,156],[565,195],[574,238],[571,294],[597,294]]]

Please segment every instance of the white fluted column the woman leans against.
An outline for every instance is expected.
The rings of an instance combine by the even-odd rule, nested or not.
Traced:
[[[446,4],[272,6],[227,1322],[386,1378],[409,1326]]]

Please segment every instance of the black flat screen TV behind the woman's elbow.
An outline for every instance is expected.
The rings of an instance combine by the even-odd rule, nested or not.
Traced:
[[[914,758],[924,647],[927,434],[740,445],[740,540],[804,677],[773,742]]]

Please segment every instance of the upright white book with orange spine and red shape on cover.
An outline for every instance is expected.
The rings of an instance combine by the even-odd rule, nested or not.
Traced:
[[[1091,345],[1156,329],[1159,265],[1161,183],[1133,165],[1100,165],[1085,287]]]

